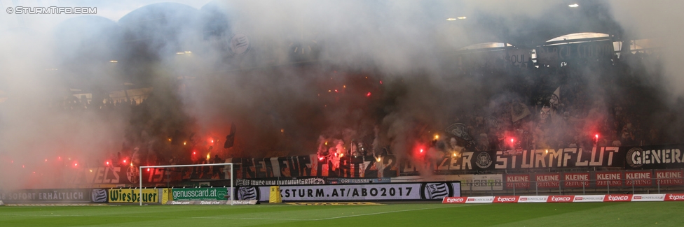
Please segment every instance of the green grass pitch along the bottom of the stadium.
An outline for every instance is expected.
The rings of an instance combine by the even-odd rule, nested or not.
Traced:
[[[0,226],[683,226],[684,203],[0,207]]]

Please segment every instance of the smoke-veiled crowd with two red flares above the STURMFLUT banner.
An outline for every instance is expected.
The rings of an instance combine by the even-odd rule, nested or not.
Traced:
[[[483,151],[663,143],[662,121],[674,116],[650,119],[648,111],[662,101],[644,97],[653,89],[644,85],[654,77],[643,66],[649,58],[638,53],[559,68],[506,68],[498,76],[514,78],[511,92],[456,120],[467,126],[470,149]]]

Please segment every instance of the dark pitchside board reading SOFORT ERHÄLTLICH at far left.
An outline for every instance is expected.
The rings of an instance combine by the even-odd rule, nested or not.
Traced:
[[[4,203],[90,203],[92,189],[27,189],[1,191],[0,200]],[[99,193],[100,191],[98,191]],[[100,203],[101,194],[95,196]],[[104,195],[107,198],[107,195]]]

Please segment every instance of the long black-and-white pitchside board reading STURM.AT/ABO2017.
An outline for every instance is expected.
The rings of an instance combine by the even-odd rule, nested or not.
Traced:
[[[270,186],[240,186],[238,200],[268,201]],[[442,200],[460,196],[460,182],[280,186],[283,201]]]

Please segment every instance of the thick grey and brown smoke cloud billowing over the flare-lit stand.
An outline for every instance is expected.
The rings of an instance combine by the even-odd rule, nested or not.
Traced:
[[[88,6],[98,13],[0,13],[0,188],[68,186],[65,168],[102,166],[119,152],[146,165],[196,161],[189,152],[199,159],[315,154],[324,142],[349,149],[355,141],[371,152],[389,147],[411,156],[416,141],[444,135],[465,115],[523,97],[509,89],[515,78],[455,73],[453,52],[508,39],[533,48],[565,35],[554,29],[602,29],[573,21],[581,13],[559,13],[566,10],[614,24],[624,38],[662,41],[659,61],[644,63],[648,71],[587,76],[593,100],[629,101],[635,95],[614,85],[639,81],[638,101],[653,110],[643,112],[644,121],[664,126],[657,121],[668,117],[667,138],[680,138],[684,126],[667,114],[684,106],[684,18],[676,11],[682,7],[671,6],[678,1],[587,3],[596,10],[582,9],[584,1],[578,9],[567,8],[570,1],[17,2],[0,1],[2,8]],[[461,16],[467,20],[445,20]],[[250,38],[247,53],[231,53],[233,34]],[[132,87],[153,89],[134,107],[97,103]],[[93,103],[74,101],[71,89],[92,94]],[[610,111],[597,106],[587,122]],[[224,149],[232,123],[235,146]]]

